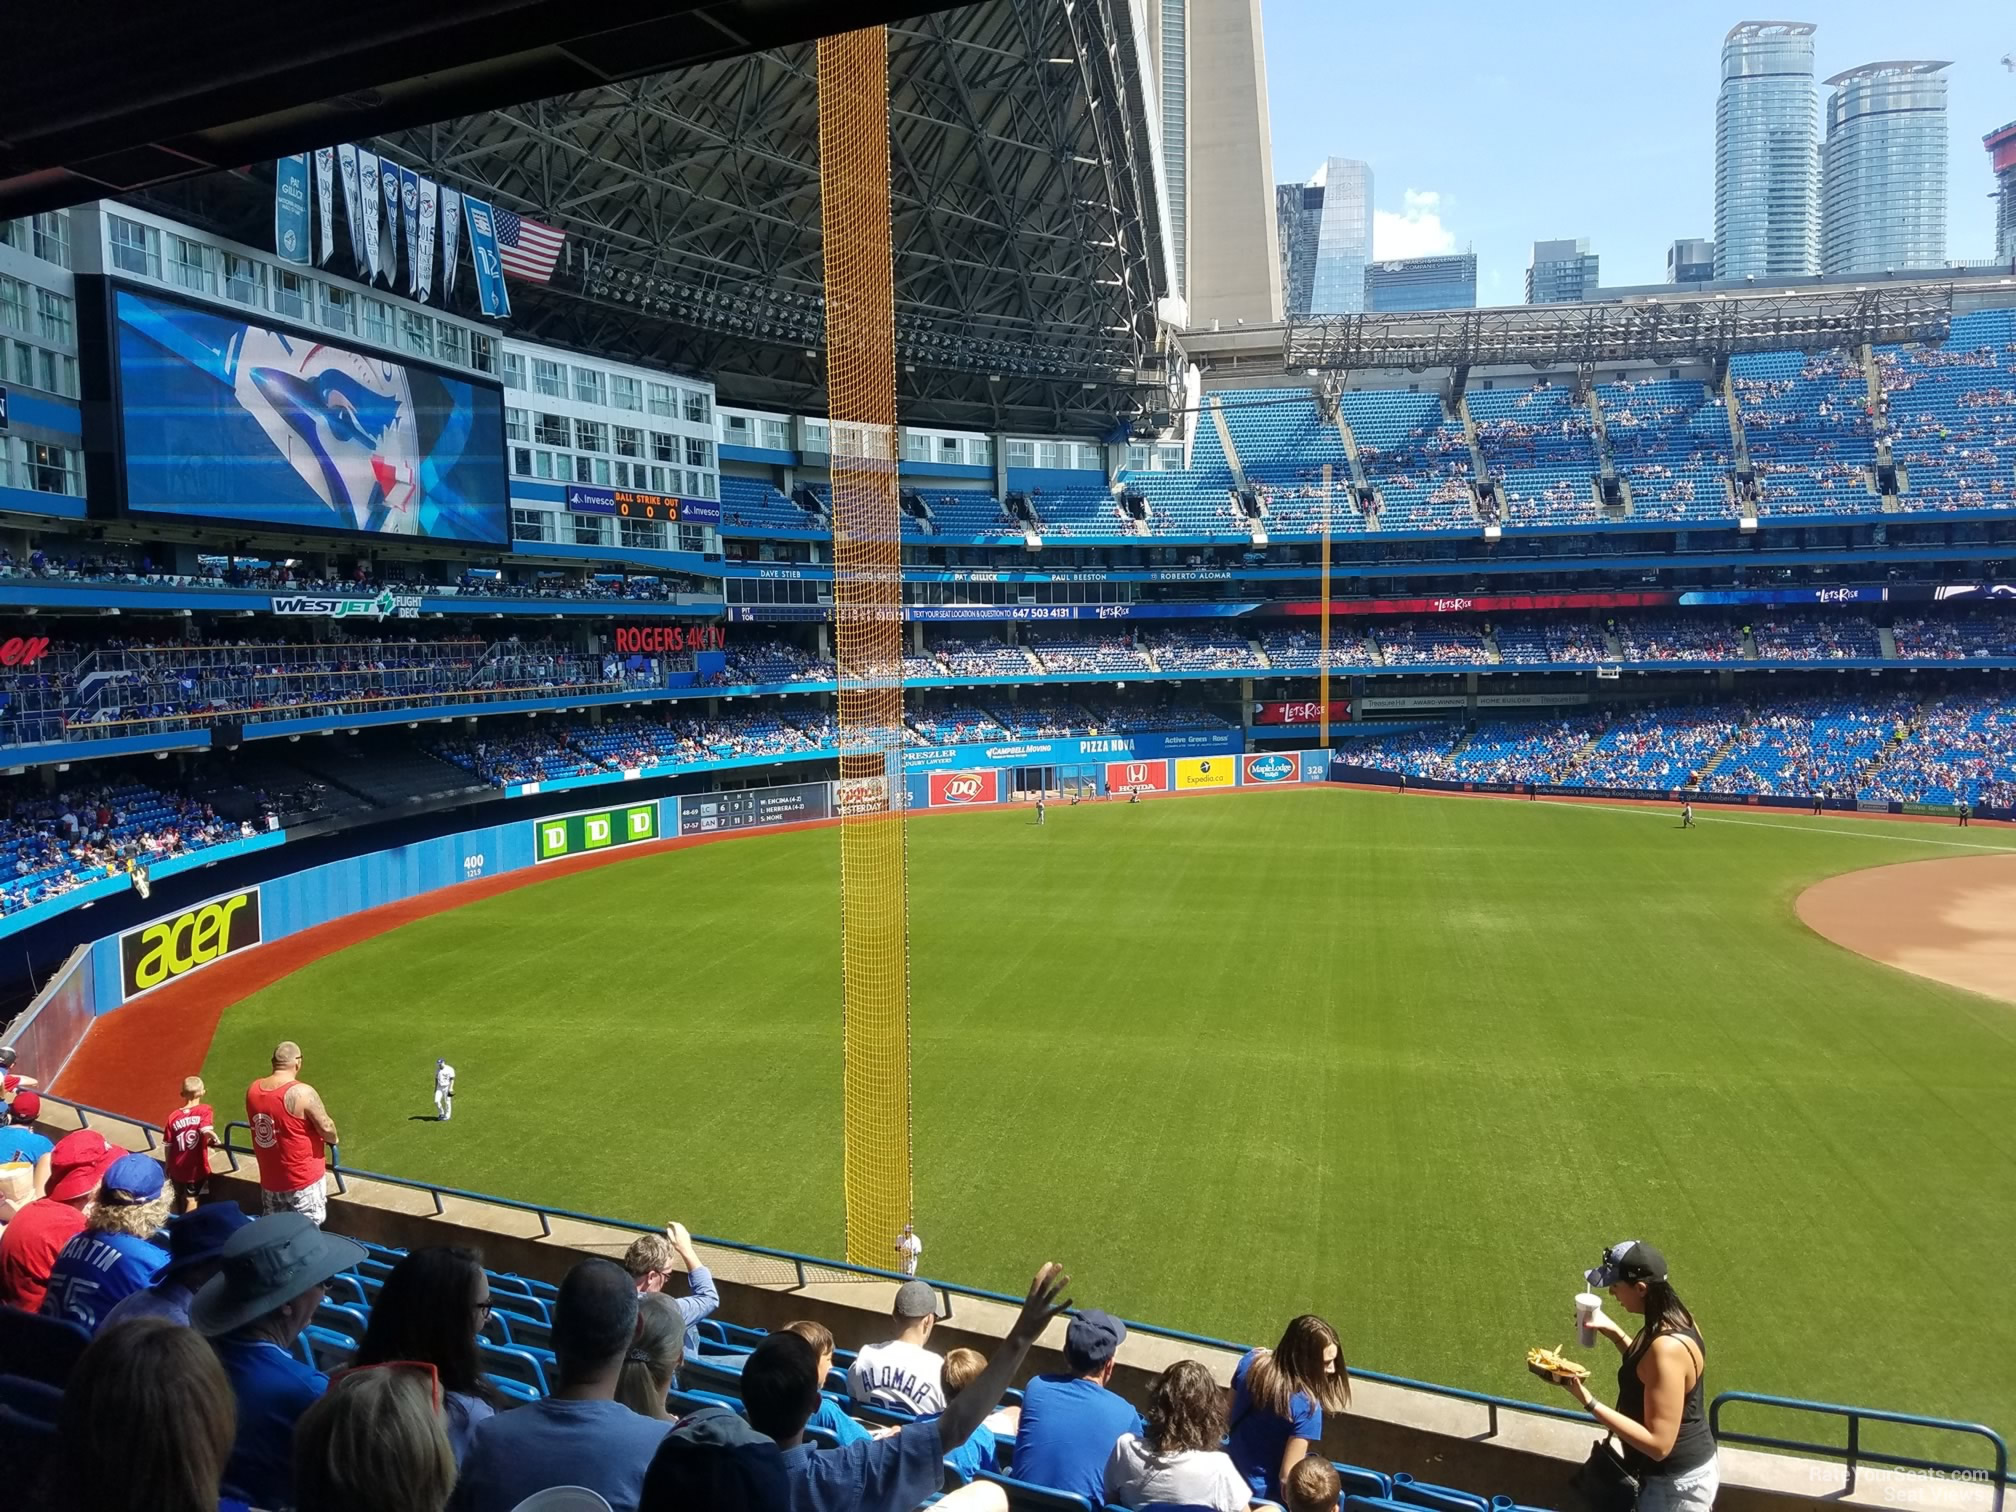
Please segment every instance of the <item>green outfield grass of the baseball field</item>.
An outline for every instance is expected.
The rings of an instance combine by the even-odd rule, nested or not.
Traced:
[[[1792,913],[2002,845],[1339,790],[923,818],[925,1272],[1054,1258],[1236,1341],[1316,1310],[1355,1365],[1564,1403],[1524,1351],[1647,1238],[1712,1389],[2012,1431],[2016,1008]],[[536,883],[240,1004],[206,1075],[298,1038],[359,1167],[839,1254],[837,887],[833,831]]]

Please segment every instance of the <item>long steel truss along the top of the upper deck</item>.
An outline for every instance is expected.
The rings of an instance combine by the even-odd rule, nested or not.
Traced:
[[[1697,361],[1746,351],[1943,341],[1951,319],[1951,284],[1335,314],[1282,327],[1282,369],[1339,373]]]

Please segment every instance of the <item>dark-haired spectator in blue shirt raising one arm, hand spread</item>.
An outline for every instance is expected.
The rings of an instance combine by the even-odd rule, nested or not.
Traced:
[[[818,1405],[818,1355],[812,1345],[794,1333],[764,1339],[742,1367],[742,1407],[750,1427],[784,1450],[788,1512],[911,1512],[935,1494],[946,1480],[946,1454],[966,1443],[1000,1405],[1030,1345],[1050,1318],[1070,1306],[1068,1298],[1058,1300],[1068,1282],[1052,1264],[1036,1272],[1008,1339],[980,1379],[943,1413],[837,1450],[814,1450],[804,1441],[804,1425]],[[937,1502],[941,1512],[1004,1506],[1006,1498],[992,1482],[964,1486]]]

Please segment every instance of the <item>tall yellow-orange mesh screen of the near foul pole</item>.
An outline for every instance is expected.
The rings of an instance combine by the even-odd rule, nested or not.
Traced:
[[[841,980],[847,1258],[889,1266],[909,1222],[909,887],[903,581],[889,228],[889,44],[818,44],[818,194],[833,421],[833,619],[841,681]]]

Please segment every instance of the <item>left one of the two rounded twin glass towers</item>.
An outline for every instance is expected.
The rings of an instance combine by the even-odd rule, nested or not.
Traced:
[[[1812,24],[1742,20],[1716,95],[1716,278],[1820,270]]]

